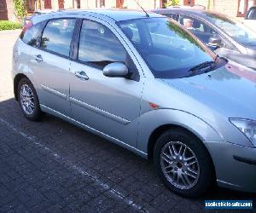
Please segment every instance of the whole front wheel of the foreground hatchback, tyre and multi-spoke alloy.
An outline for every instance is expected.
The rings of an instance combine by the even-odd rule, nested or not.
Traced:
[[[166,187],[183,197],[198,197],[214,182],[207,148],[195,135],[179,128],[167,130],[156,141],[154,166]]]

